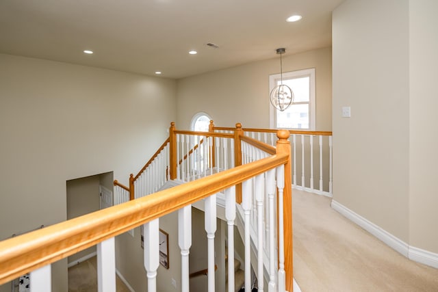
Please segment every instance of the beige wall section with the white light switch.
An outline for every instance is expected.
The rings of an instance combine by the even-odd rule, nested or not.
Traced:
[[[333,12],[333,198],[405,242],[408,16],[407,0],[345,1]]]

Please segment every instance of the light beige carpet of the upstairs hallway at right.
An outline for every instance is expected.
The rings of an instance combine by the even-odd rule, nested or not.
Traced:
[[[438,291],[438,269],[415,263],[331,209],[293,191],[294,278],[302,292]]]

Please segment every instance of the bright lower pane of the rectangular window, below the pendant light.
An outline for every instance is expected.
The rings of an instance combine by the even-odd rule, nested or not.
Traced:
[[[284,111],[277,111],[276,127],[309,129],[309,105],[291,105]]]

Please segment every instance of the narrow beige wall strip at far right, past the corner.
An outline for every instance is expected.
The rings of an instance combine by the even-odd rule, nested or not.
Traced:
[[[438,2],[409,1],[409,243],[438,253]]]

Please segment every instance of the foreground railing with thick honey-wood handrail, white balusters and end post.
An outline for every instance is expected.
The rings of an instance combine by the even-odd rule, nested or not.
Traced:
[[[229,227],[233,226],[235,186],[243,183],[244,210],[250,215],[252,196],[255,196],[258,203],[260,201],[263,204],[263,200],[260,198],[263,198],[263,189],[265,188],[259,186],[263,185],[263,177],[266,173],[266,177],[270,177],[269,196],[274,196],[276,189],[279,189],[277,213],[284,214],[279,216],[278,223],[279,261],[270,263],[273,280],[270,281],[269,286],[272,291],[292,291],[292,236],[288,238],[284,233],[285,230],[292,230],[292,221],[286,220],[287,217],[292,218],[292,192],[290,188],[292,182],[290,172],[287,171],[290,170],[290,144],[287,140],[289,133],[279,131],[277,135],[279,141],[276,144],[276,154],[270,157],[1,241],[0,284],[30,271],[32,289],[51,291],[51,263],[97,244],[99,291],[115,291],[114,237],[143,225],[144,238],[146,239],[144,241],[144,267],[148,276],[148,291],[156,291],[156,275],[159,265],[159,257],[157,256],[159,254],[159,217],[178,211],[181,290],[189,291],[188,251],[191,245],[191,230],[186,227],[191,226],[191,204],[205,199],[205,229],[209,242],[207,276],[209,291],[214,291],[216,194],[220,191],[224,191],[226,194],[227,220]],[[272,184],[275,181],[275,176],[276,185]],[[273,207],[270,203],[269,209]],[[272,215],[269,218],[271,220],[270,226],[274,226]],[[228,236],[229,239],[233,238],[233,228],[229,228]],[[286,254],[289,254],[286,258],[285,251]],[[233,262],[232,254],[233,248],[229,247],[229,261],[231,263]],[[261,269],[263,269],[263,265],[258,265],[257,273],[260,273]],[[250,280],[246,279],[245,285],[249,291]],[[233,287],[233,282],[229,282],[229,287]]]

